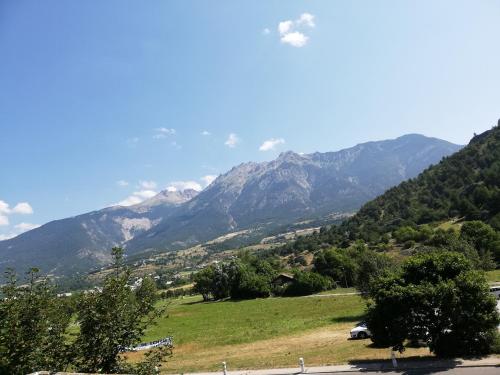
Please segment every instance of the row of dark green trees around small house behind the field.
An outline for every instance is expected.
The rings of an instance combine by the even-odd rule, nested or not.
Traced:
[[[287,269],[280,258],[240,254],[229,262],[204,268],[193,276],[194,291],[204,300],[302,296],[356,286],[365,292],[374,277],[396,266],[385,254],[357,242],[347,249],[317,251],[308,267]]]

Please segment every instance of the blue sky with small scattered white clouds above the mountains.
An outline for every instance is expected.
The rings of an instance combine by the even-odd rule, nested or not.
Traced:
[[[497,0],[0,0],[0,239],[500,118]]]

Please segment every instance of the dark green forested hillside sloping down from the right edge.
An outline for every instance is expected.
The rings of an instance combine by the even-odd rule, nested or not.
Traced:
[[[371,245],[388,243],[391,238],[418,241],[429,237],[422,233],[429,230],[428,226],[422,228],[423,224],[446,220],[461,224],[473,221],[465,227],[469,234],[462,237],[483,233],[489,240],[475,244],[478,250],[488,250],[497,262],[500,260],[499,126],[474,136],[461,151],[368,202],[340,226],[300,238],[285,251],[346,247],[354,240]],[[397,234],[412,230],[413,236],[397,238]]]

